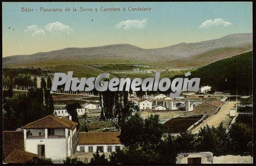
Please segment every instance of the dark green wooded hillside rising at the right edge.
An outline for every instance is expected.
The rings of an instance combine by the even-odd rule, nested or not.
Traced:
[[[184,77],[177,75],[174,77]],[[200,86],[240,95],[252,94],[252,51],[222,59],[191,72],[189,79],[199,77]]]

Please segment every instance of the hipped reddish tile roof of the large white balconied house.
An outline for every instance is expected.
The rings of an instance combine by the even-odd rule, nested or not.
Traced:
[[[77,126],[76,122],[73,122],[65,117],[57,118],[52,115],[45,116],[39,120],[24,125],[22,129],[72,129]]]

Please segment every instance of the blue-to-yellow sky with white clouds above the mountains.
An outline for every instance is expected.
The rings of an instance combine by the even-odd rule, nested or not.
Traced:
[[[33,12],[22,12],[22,7]],[[2,32],[3,57],[109,44],[161,48],[252,33],[252,2],[3,2]]]

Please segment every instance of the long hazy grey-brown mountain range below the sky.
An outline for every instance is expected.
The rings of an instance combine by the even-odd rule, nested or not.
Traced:
[[[2,64],[3,67],[40,67],[63,71],[75,68],[76,65],[92,69],[88,65],[120,63],[168,68],[195,68],[251,50],[252,33],[238,33],[209,41],[183,42],[155,49],[144,49],[130,44],[64,48],[32,55],[3,57]]]

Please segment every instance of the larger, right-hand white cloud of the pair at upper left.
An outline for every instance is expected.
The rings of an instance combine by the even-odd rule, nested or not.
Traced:
[[[72,28],[60,22],[53,22],[45,26],[45,30],[51,33],[71,32]]]

